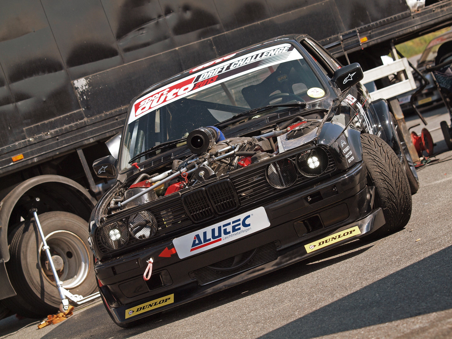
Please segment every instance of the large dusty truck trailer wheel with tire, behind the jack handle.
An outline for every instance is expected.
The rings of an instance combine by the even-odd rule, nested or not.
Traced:
[[[75,214],[61,211],[38,217],[52,256],[58,255],[63,261],[58,270],[63,287],[84,297],[94,292],[97,284],[87,240],[87,222]],[[19,224],[14,230],[9,245],[11,257],[6,263],[17,295],[2,300],[2,304],[28,318],[55,313],[61,304],[38,234],[34,218]]]

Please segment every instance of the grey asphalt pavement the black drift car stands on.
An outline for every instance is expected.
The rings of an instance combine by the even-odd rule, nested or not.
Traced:
[[[42,330],[13,315],[0,321],[0,338],[452,338],[452,151],[435,129],[450,121],[445,108],[424,116],[438,160],[419,169],[403,230],[355,240],[131,329],[115,325],[96,302]]]

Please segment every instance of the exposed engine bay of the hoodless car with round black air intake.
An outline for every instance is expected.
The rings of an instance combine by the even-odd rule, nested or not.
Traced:
[[[197,128],[186,141],[191,156],[173,160],[170,170],[140,174],[127,189],[119,189],[105,214],[140,206],[301,146],[315,138],[320,123],[297,116],[256,137],[226,138],[217,127]],[[316,158],[313,164],[318,164]]]

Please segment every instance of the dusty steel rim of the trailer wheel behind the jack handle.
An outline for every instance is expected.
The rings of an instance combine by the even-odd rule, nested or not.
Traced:
[[[63,259],[64,267],[58,272],[63,287],[66,289],[80,286],[88,276],[90,267],[90,256],[85,243],[80,237],[70,231],[54,231],[46,236],[47,245],[50,246],[52,255],[57,254]],[[49,275],[49,271],[45,268],[47,256],[42,250],[43,244],[39,246],[40,264],[43,276],[47,282],[56,287],[53,275]],[[47,271],[47,273],[46,273]]]

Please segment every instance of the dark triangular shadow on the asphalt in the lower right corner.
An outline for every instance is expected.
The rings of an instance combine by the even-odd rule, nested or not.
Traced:
[[[452,308],[452,246],[324,306],[261,339],[309,339]]]

